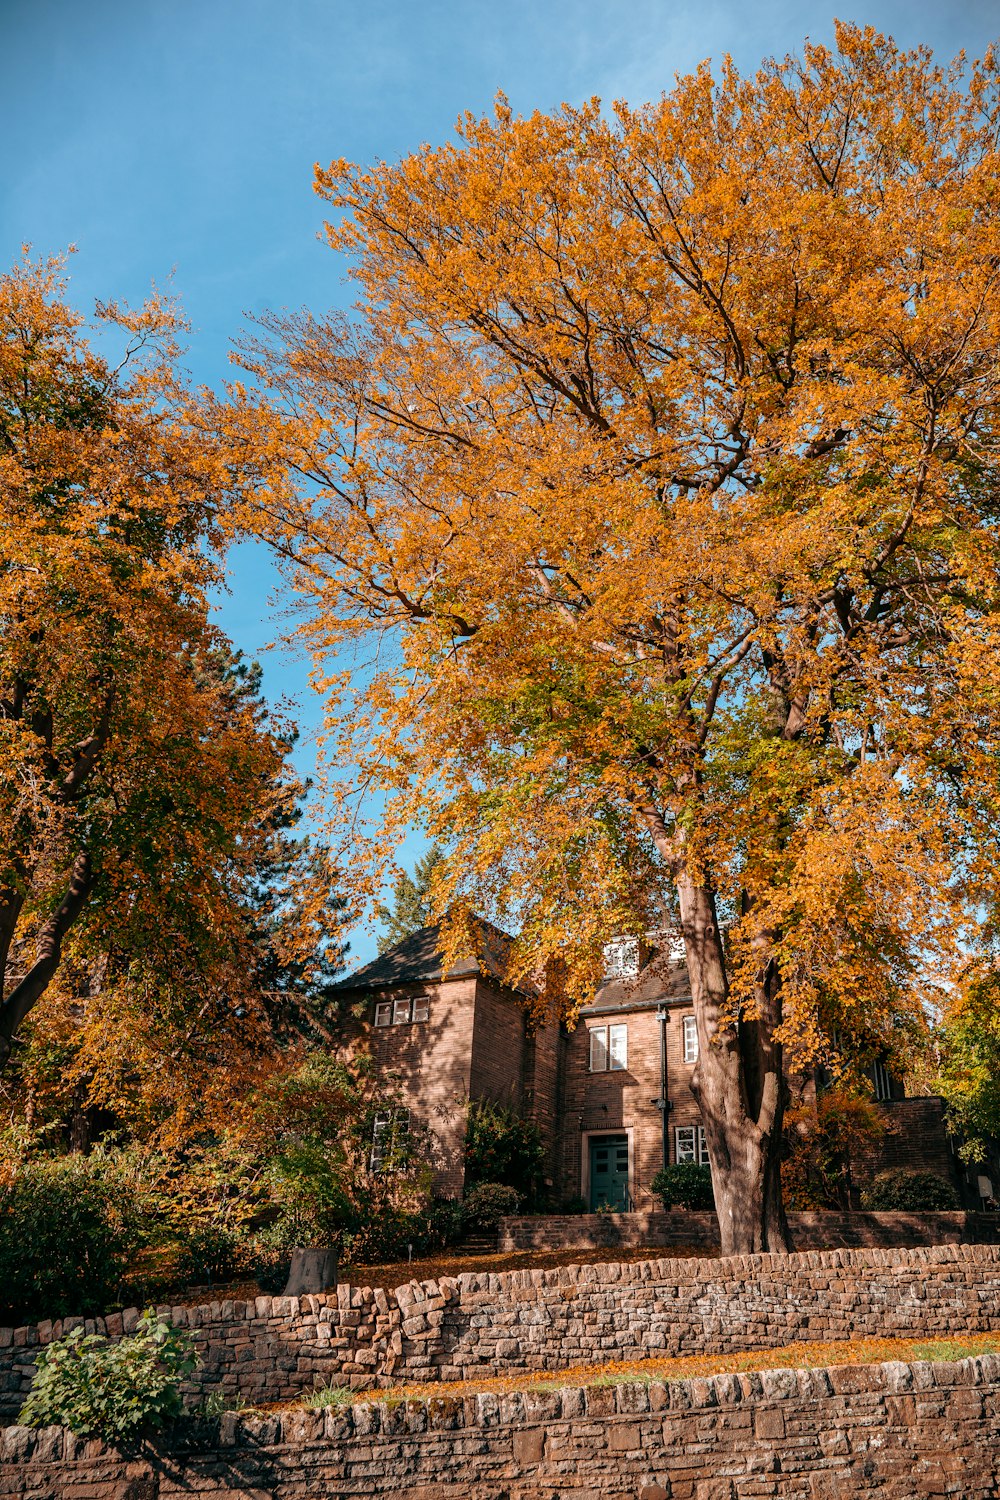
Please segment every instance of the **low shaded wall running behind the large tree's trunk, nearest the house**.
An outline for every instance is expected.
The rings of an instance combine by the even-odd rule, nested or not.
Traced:
[[[996,1245],[999,1214],[789,1214],[796,1250]],[[501,1220],[499,1248],[718,1250],[714,1214],[544,1214]]]

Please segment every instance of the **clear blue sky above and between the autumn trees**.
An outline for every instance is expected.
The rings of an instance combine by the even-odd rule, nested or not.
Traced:
[[[498,88],[519,111],[637,104],[703,57],[751,69],[831,39],[834,14],[948,56],[1000,38],[997,0],[0,0],[0,262],[76,244],[84,309],[172,273],[190,370],[216,384],[246,312],[351,300],[316,238],[313,162],[441,141]],[[220,618],[250,654],[280,630],[271,588],[240,549]],[[315,724],[304,664],[262,660],[270,696]]]

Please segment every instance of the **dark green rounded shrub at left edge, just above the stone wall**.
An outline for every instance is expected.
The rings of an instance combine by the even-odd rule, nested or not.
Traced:
[[[0,1178],[0,1322],[102,1312],[139,1244],[130,1184],[103,1156],[27,1161]]]

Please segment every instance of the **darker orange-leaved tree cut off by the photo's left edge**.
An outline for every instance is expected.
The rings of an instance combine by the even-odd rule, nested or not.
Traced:
[[[292,962],[331,878],[264,910],[300,788],[210,621],[238,472],[174,312],[99,321],[114,363],[58,264],[0,279],[0,1065],[48,994],[91,1076],[196,1092],[267,1034],[259,956]]]

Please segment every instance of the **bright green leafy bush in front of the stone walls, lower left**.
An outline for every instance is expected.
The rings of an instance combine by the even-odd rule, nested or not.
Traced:
[[[117,1342],[75,1328],[40,1350],[19,1420],[123,1442],[180,1414],[181,1382],[196,1365],[190,1335],[151,1310]]]

